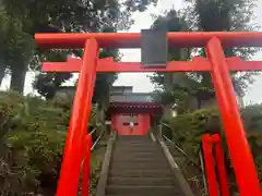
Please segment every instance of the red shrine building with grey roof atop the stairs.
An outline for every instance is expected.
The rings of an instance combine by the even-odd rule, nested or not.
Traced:
[[[146,135],[152,120],[162,113],[153,94],[133,93],[132,86],[115,86],[110,93],[111,130],[119,135]]]

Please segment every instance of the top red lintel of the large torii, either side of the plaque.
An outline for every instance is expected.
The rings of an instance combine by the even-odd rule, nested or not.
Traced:
[[[213,32],[213,33],[167,33],[170,47],[204,47],[217,37],[225,47],[262,47],[262,32]],[[40,48],[84,48],[87,39],[94,38],[100,48],[140,48],[140,33],[62,33],[36,34],[35,40]]]

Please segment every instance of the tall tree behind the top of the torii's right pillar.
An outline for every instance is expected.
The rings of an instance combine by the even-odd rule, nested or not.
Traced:
[[[190,23],[195,28],[203,32],[245,32],[255,30],[252,25],[253,8],[257,0],[186,0],[193,8],[190,12]],[[250,59],[254,52],[253,48],[225,48],[226,57],[238,56],[242,59]],[[201,52],[205,56],[204,51]],[[235,90],[239,96],[243,96],[248,85],[253,82],[254,73],[231,73]],[[203,86],[212,88],[209,73],[201,73]]]

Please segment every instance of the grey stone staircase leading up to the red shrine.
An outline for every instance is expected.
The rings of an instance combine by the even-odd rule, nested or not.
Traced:
[[[162,147],[148,136],[118,136],[105,187],[107,196],[183,196]]]

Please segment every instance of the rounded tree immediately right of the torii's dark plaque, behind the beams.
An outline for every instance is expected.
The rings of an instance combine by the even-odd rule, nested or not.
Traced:
[[[188,32],[190,30],[186,17],[175,10],[165,13],[165,16],[156,16],[152,25],[153,29],[166,29],[167,32]],[[169,61],[187,61],[190,59],[190,49],[169,48]],[[189,98],[188,90],[183,88],[184,82],[189,82],[188,75],[184,73],[154,73],[151,81],[156,85],[156,100],[162,103],[178,105],[184,107],[186,100]],[[183,81],[183,85],[180,82]],[[187,98],[187,99],[186,99]],[[170,108],[170,107],[168,107]]]

